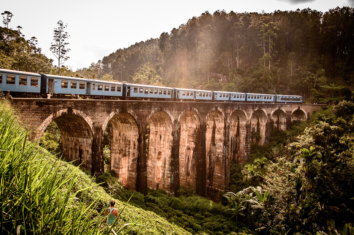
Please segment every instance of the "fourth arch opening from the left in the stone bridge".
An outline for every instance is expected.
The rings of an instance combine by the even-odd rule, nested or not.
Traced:
[[[179,183],[196,191],[200,159],[200,120],[194,111],[185,112],[179,122]]]

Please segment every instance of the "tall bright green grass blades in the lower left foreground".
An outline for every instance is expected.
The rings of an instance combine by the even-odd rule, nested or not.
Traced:
[[[0,206],[3,234],[97,234],[101,216],[92,217],[73,192],[75,170],[59,171],[43,150],[27,141],[11,107],[0,103]],[[101,212],[102,213],[102,212]],[[101,214],[100,214],[101,215]]]

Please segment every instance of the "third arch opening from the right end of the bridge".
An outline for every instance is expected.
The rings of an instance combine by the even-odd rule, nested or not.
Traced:
[[[265,143],[265,127],[267,115],[263,110],[257,109],[251,117],[251,141],[260,145]]]

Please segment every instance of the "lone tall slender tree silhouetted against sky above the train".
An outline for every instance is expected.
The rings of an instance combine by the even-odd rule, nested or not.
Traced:
[[[58,24],[58,28],[55,28],[53,31],[54,43],[51,44],[49,49],[58,59],[58,74],[59,74],[60,65],[63,64],[67,59],[69,59],[69,57],[67,56],[68,52],[70,51],[70,49],[67,48],[69,43],[65,42],[65,39],[67,39],[70,35],[68,35],[68,32],[64,31],[64,29],[68,26],[67,24],[64,25],[64,23],[61,20],[59,20],[57,24]]]

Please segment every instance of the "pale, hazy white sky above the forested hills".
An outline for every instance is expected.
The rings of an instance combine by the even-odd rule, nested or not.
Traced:
[[[324,13],[337,6],[354,7],[354,0],[0,0],[0,12],[13,14],[9,28],[21,26],[26,40],[36,37],[37,47],[54,65],[58,62],[49,50],[53,30],[59,20],[67,24],[70,58],[64,65],[73,71],[88,68],[119,48],[159,38],[206,11],[271,13],[311,8]]]

